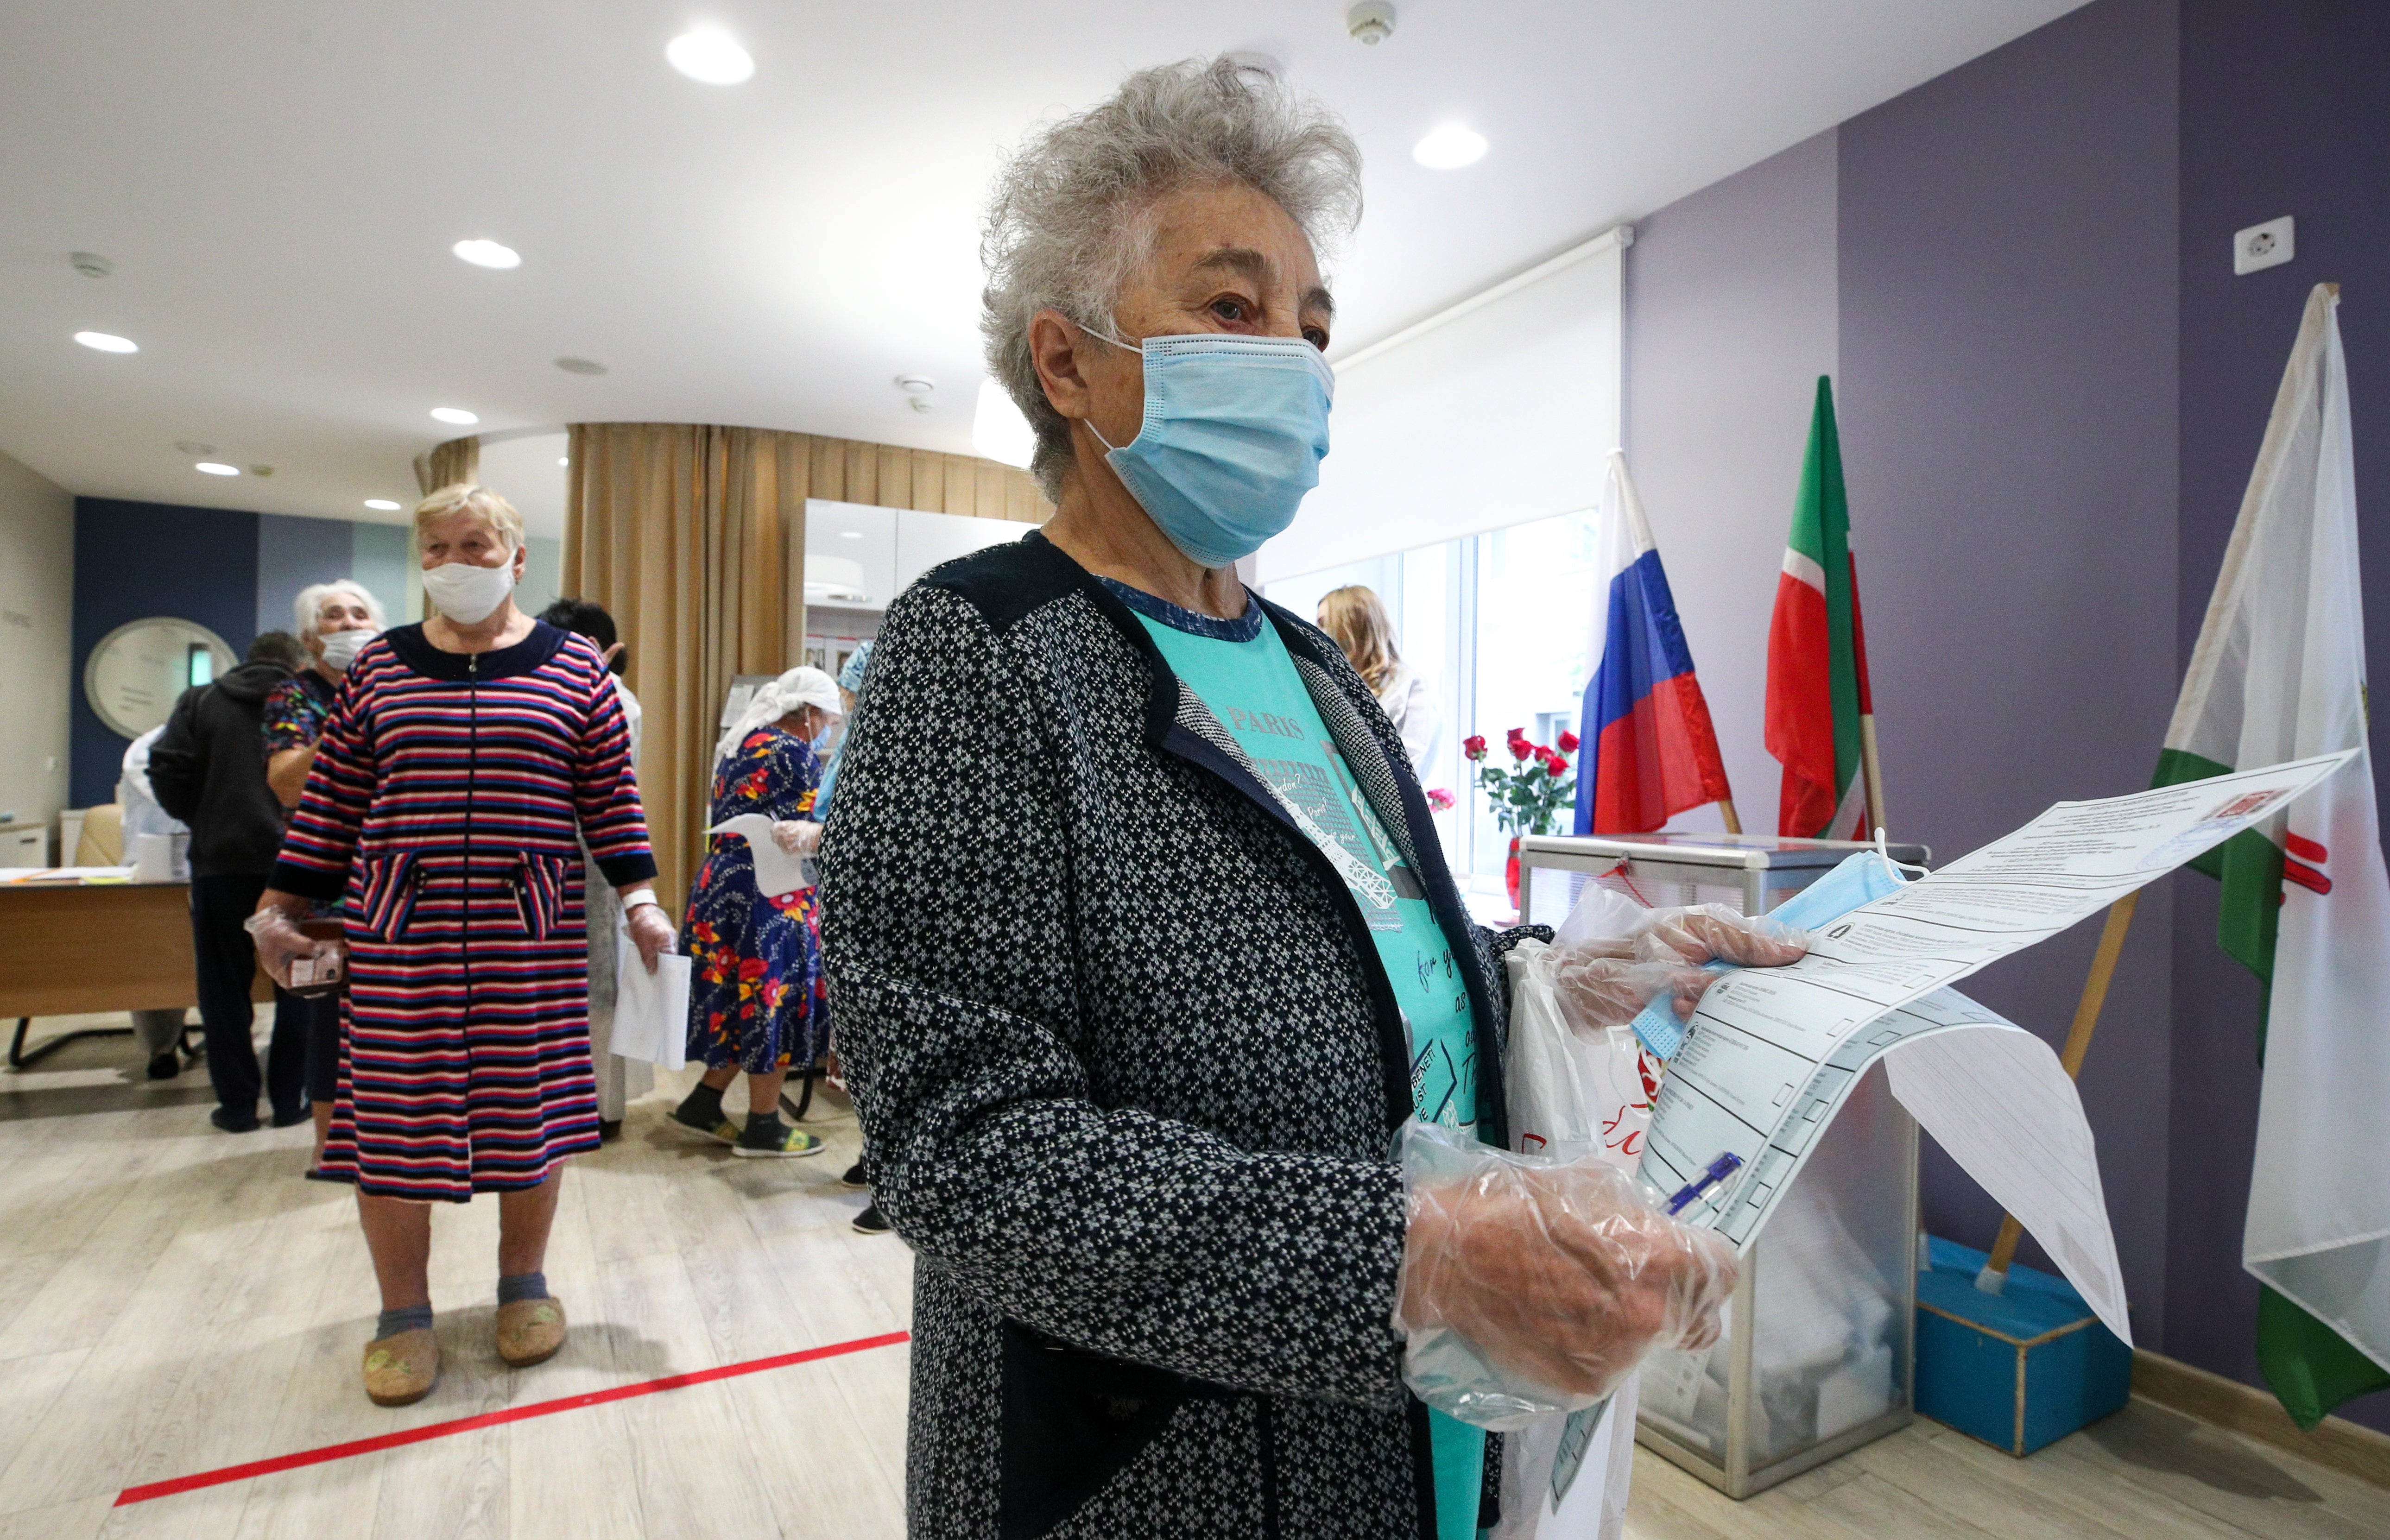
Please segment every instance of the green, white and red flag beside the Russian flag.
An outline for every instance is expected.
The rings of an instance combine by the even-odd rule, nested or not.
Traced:
[[[1859,569],[1850,555],[1843,445],[1833,430],[1833,383],[1816,378],[1809,452],[1785,538],[1769,624],[1766,744],[1785,768],[1778,835],[1867,839],[1867,634],[1859,627]]]

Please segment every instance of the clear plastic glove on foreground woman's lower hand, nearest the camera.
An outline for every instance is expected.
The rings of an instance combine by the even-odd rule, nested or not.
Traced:
[[[1479,1428],[1594,1406],[1654,1349],[1704,1349],[1735,1251],[1599,1157],[1513,1155],[1422,1122],[1396,1141],[1410,1232],[1403,1380]]]

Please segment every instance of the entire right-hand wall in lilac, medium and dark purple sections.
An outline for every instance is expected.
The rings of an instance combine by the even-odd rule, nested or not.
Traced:
[[[1687,617],[1706,612],[1695,567],[1723,574],[1728,545],[1773,555],[1792,466],[1771,445],[1785,402],[1807,404],[1792,363],[1833,337],[1902,837],[1953,856],[2060,796],[2149,782],[2325,277],[2345,285],[2359,497],[2390,497],[2383,103],[2390,7],[2096,0],[1642,222],[1628,440],[1654,524],[1716,538],[1663,536]],[[1828,143],[1831,182],[1814,167]],[[2285,213],[2297,261],[2232,277],[2232,230]],[[1831,289],[1809,277],[1826,256]],[[2390,521],[2364,528],[2390,670]],[[1714,579],[1718,605],[1764,603]],[[1721,610],[1704,684],[1733,684],[1730,653],[1757,667],[1749,624]],[[1773,777],[1745,770],[1738,789],[1764,827]],[[2213,882],[2149,890],[2082,1090],[2139,1339],[2254,1385],[2239,1234],[2259,990],[2213,937]],[[2094,940],[2086,923],[1969,990],[2058,1040]],[[1929,1148],[1926,1220],[1981,1246],[1998,1205]],[[2390,1430],[2390,1394],[2342,1416]]]

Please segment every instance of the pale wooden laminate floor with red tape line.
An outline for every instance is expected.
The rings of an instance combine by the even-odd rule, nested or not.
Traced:
[[[380,1411],[358,1389],[375,1294],[349,1188],[299,1179],[306,1129],[217,1133],[203,1071],[151,1083],[134,1057],[112,1038],[0,1076],[0,1540],[901,1535],[903,1346],[117,1507],[141,1483],[901,1330],[911,1289],[901,1241],[848,1229],[841,1102],[808,1119],[827,1153],[746,1162],[664,1124],[686,1086],[664,1076],[566,1177],[547,1260],[564,1353],[497,1363],[497,1205],[442,1208],[447,1373]],[[1640,1454],[1628,1533],[2378,1540],[2390,1492],[2137,1401],[2029,1461],[1919,1423],[1742,1504]]]

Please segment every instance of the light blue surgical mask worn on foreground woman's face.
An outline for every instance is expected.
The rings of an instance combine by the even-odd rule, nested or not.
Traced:
[[[1119,337],[1087,332],[1111,347]],[[1295,521],[1329,452],[1336,375],[1303,337],[1147,337],[1145,421],[1104,462],[1190,562],[1228,567]]]

